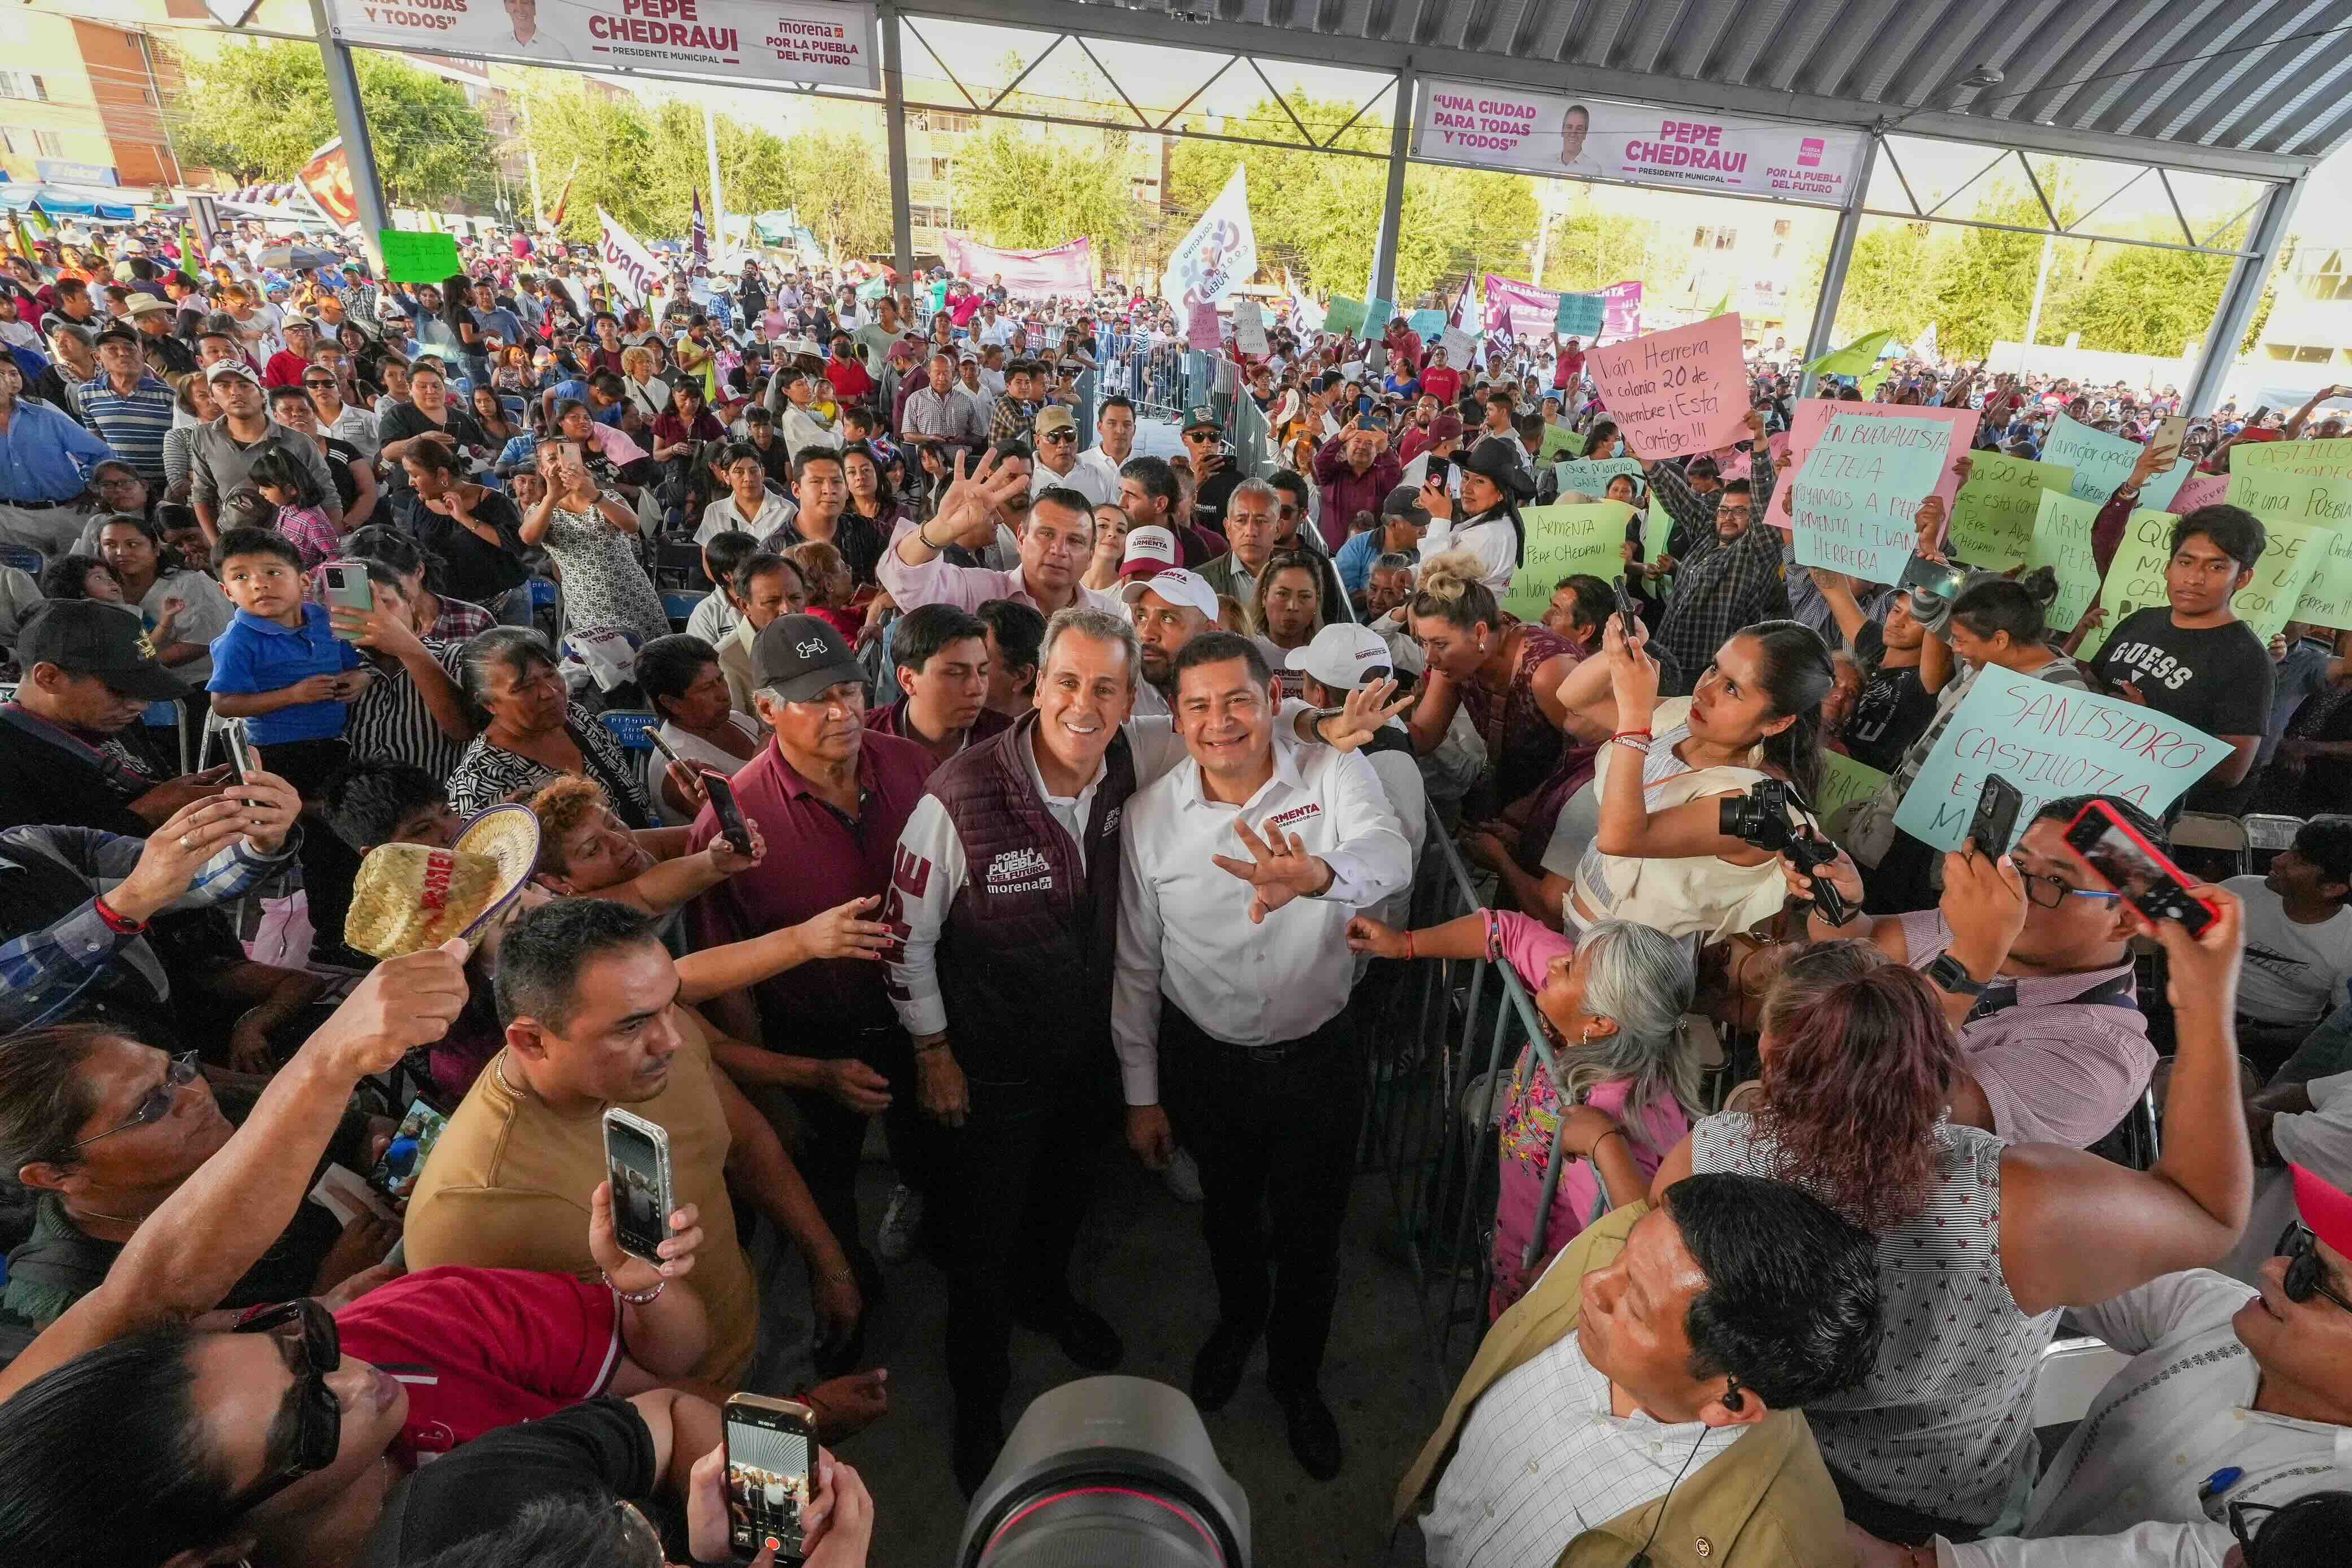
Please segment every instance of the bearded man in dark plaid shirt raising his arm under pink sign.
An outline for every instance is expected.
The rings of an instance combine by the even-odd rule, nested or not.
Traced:
[[[1748,416],[1748,430],[1762,447],[1759,414]],[[1658,621],[1658,646],[1675,656],[1672,691],[1661,689],[1658,696],[1691,696],[1731,632],[1788,616],[1788,536],[1764,522],[1778,475],[1771,463],[1757,463],[1755,484],[1731,480],[1700,496],[1672,463],[1644,458],[1642,468],[1675,531],[1691,541],[1686,555],[1661,562],[1675,574],[1675,592]]]

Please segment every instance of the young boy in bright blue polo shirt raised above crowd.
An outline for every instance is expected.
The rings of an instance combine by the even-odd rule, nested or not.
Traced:
[[[221,592],[238,618],[212,639],[212,712],[242,719],[263,766],[315,804],[325,783],[350,762],[343,741],[348,705],[367,689],[360,651],[336,642],[327,607],[308,599],[294,541],[273,529],[226,529],[212,550]],[[372,959],[343,947],[343,914],[360,858],[310,823],[301,835],[303,893],[315,931],[313,957],[365,969]]]

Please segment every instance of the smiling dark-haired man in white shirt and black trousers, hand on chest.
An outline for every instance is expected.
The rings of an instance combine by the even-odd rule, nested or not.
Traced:
[[[1188,762],[1141,790],[1122,827],[1127,1140],[1157,1168],[1181,1135],[1200,1161],[1218,1324],[1192,1401],[1223,1408],[1268,1335],[1291,1453],[1329,1481],[1341,1436],[1315,1385],[1352,1178],[1341,1150],[1364,1100],[1348,917],[1409,882],[1411,849],[1371,764],[1277,743],[1256,644],[1202,632],[1174,668]]]

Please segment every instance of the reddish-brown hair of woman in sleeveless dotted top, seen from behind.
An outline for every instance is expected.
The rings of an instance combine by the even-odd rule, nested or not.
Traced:
[[[1870,943],[1809,943],[1764,997],[1764,1107],[1778,1180],[1863,1229],[1926,1208],[1959,1037],[1926,980]]]

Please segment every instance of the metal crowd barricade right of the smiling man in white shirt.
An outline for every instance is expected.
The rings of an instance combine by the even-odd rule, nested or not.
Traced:
[[[1414,893],[1414,926],[1437,926],[1482,907],[1486,898],[1432,811]],[[1486,1331],[1496,1105],[1519,1060],[1519,1046],[1534,1041],[1545,1074],[1552,1072],[1552,1048],[1519,976],[1510,964],[1489,959],[1411,964],[1371,1037],[1378,1044],[1359,1168],[1388,1175],[1397,1244],[1418,1286],[1430,1359],[1439,1387],[1451,1387]],[[1465,1105],[1465,1098],[1475,1105]],[[1555,1131],[1543,1199],[1519,1260],[1524,1267],[1548,1251],[1545,1227],[1562,1164]],[[1606,1187],[1602,1201],[1609,1204]],[[1470,1328],[1468,1338],[1461,1335],[1463,1328]]]

